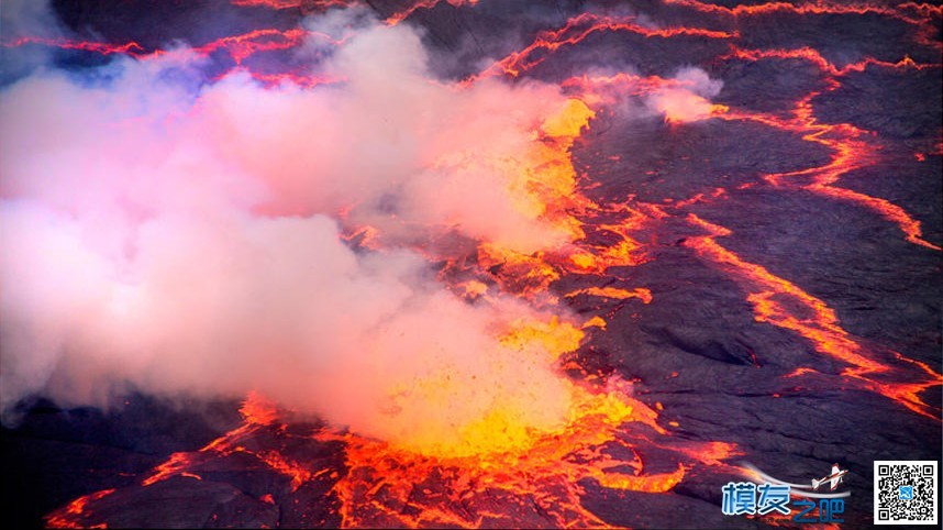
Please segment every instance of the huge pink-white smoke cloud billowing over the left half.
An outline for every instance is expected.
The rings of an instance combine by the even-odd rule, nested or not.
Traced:
[[[565,379],[496,340],[548,316],[466,302],[419,252],[456,235],[566,243],[520,178],[567,101],[540,84],[443,85],[425,60],[411,30],[362,23],[322,65],[342,80],[310,90],[240,73],[203,85],[170,54],[0,92],[5,419],[30,394],[104,406],[130,385],[258,390],[454,454],[478,450],[463,432],[485,420],[559,426]],[[382,250],[344,243],[364,225]]]

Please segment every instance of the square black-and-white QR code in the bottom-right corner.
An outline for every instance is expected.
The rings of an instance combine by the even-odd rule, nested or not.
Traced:
[[[936,511],[935,461],[875,461],[875,525],[936,525]]]

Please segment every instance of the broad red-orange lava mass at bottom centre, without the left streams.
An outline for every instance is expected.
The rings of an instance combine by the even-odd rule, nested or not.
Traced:
[[[620,471],[626,463],[603,452],[607,444],[620,443],[617,434],[626,421],[664,432],[654,421],[654,411],[618,389],[580,388],[577,396],[572,420],[522,452],[436,459],[345,437],[350,472],[335,486],[343,526],[468,528],[526,520],[604,526],[581,506],[579,481],[591,478],[603,487],[643,492],[667,492],[680,482],[685,474],[680,464],[672,473],[646,474],[636,461],[630,463],[631,471]],[[509,501],[496,509],[490,499],[504,497]]]

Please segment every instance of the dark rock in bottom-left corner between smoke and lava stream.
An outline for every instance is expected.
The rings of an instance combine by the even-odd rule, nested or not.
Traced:
[[[3,508],[20,528],[85,494],[140,483],[177,451],[196,451],[240,422],[234,402],[169,402],[142,395],[115,408],[29,407],[0,428]]]

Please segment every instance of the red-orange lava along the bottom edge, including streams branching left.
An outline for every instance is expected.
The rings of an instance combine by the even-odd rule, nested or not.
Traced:
[[[625,422],[645,426],[645,437],[656,437],[673,448],[688,465],[719,466],[735,451],[729,444],[672,441],[656,423],[654,410],[626,397],[629,387],[610,380],[606,388],[574,386],[570,418],[555,432],[536,437],[522,451],[480,454],[474,457],[436,457],[417,454],[386,442],[353,433],[314,430],[309,438],[319,442],[341,442],[346,471],[317,468],[312,463],[293,462],[277,450],[253,450],[260,431],[277,443],[288,443],[288,426],[276,419],[273,404],[251,395],[243,405],[244,423],[195,453],[175,453],[141,483],[151,487],[179,476],[201,481],[221,464],[215,461],[248,456],[281,474],[289,487],[276,493],[280,503],[290,501],[301,487],[318,481],[333,483],[330,495],[339,500],[344,527],[421,527],[482,525],[606,526],[581,505],[581,481],[592,479],[614,490],[664,493],[685,476],[686,465],[672,472],[646,473],[635,453],[637,440],[625,437]],[[509,426],[513,427],[513,426]],[[488,431],[480,433],[489,435]],[[297,434],[296,434],[297,437]],[[633,456],[613,456],[619,450]],[[241,465],[246,465],[245,463]],[[108,503],[113,489],[76,499],[49,516],[58,528],[99,528],[96,503]],[[271,499],[271,494],[262,497]],[[500,511],[495,499],[501,499]],[[296,500],[297,503],[297,500]],[[313,521],[311,521],[313,522]],[[103,528],[103,527],[102,527]]]

